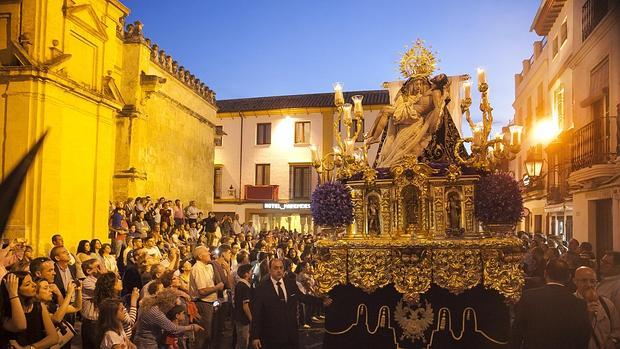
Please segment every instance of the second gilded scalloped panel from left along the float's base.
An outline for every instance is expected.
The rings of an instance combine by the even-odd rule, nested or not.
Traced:
[[[364,292],[372,293],[392,281],[389,249],[350,249],[347,262],[349,282]]]

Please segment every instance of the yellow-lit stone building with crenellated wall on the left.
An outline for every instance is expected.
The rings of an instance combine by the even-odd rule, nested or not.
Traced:
[[[0,3],[2,176],[45,131],[9,236],[107,239],[110,201],[212,205],[215,95],[117,0]]]

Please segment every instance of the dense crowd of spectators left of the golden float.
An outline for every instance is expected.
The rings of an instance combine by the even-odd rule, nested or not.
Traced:
[[[2,246],[0,349],[70,348],[78,333],[82,348],[297,348],[331,303],[316,292],[316,239],[193,201],[111,203],[103,243]]]

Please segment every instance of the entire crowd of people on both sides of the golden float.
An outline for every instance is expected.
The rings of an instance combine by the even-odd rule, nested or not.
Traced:
[[[513,348],[612,349],[620,343],[620,253],[520,233],[526,283]],[[0,349],[298,348],[331,299],[314,280],[320,234],[259,231],[160,198],[110,205],[109,236],[46,256],[0,249]]]

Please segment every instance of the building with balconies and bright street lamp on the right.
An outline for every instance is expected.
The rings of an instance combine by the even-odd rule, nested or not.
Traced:
[[[620,2],[542,0],[541,36],[515,75],[514,122],[524,125],[510,170],[523,179],[529,215],[520,229],[620,249]],[[526,175],[528,156],[545,159]]]

